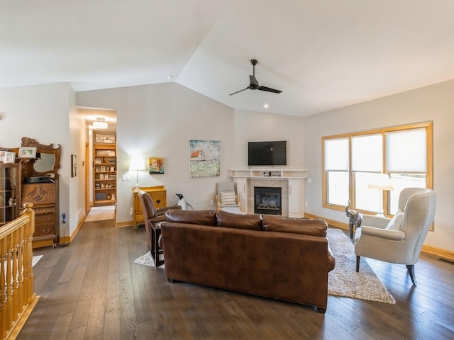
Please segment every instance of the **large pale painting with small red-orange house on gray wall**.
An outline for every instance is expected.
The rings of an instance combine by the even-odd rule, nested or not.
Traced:
[[[221,142],[189,140],[189,177],[220,176]]]

